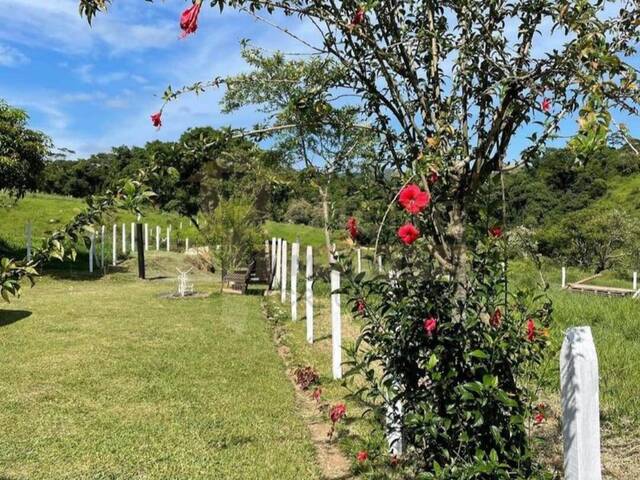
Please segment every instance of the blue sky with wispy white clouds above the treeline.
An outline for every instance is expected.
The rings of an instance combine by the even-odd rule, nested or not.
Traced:
[[[246,14],[221,15],[210,8],[203,8],[198,32],[181,40],[178,17],[185,0],[115,0],[92,28],[79,17],[76,0],[0,3],[0,98],[26,109],[33,127],[78,157],[118,145],[174,140],[192,126],[250,127],[259,120],[250,110],[220,113],[220,92],[170,104],[159,131],[149,115],[169,84],[175,88],[242,71],[243,38],[270,51],[300,50],[295,40]],[[303,37],[313,34],[295,20],[283,21]],[[616,118],[640,136],[637,119]],[[564,122],[562,133],[571,134],[574,123]],[[523,136],[516,140],[512,158],[523,142]]]

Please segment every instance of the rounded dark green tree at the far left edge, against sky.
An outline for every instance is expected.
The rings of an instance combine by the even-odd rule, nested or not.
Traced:
[[[51,140],[27,127],[29,116],[0,99],[0,190],[21,198],[37,186]]]

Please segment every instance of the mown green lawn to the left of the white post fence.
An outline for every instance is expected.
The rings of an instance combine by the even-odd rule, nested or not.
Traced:
[[[317,478],[260,297],[163,300],[173,280],[132,277],[0,306],[0,477]]]

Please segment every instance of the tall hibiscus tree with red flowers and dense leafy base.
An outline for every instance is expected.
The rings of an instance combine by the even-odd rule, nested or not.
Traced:
[[[107,3],[81,0],[81,13],[91,19]],[[324,88],[357,95],[380,140],[370,164],[385,191],[396,190],[390,208],[405,217],[388,228],[405,225],[387,245],[393,280],[353,282],[354,299],[366,299],[367,309],[358,342],[366,348],[352,353],[366,398],[402,425],[409,478],[417,472],[424,478],[535,478],[527,442],[536,405],[530,387],[549,307],[534,294],[507,295],[505,240],[494,228],[500,211],[484,195],[506,170],[539,155],[563,119],[579,120],[569,147],[584,163],[605,145],[610,112],[637,113],[631,63],[640,39],[638,4],[209,3],[272,25],[281,17],[265,17],[275,13],[315,28],[309,39],[280,31],[340,66],[339,84]],[[510,163],[514,139],[525,146]],[[403,212],[398,192],[409,184],[428,201],[422,207],[425,197],[413,196]],[[492,321],[498,308],[500,321]],[[430,335],[428,316],[437,318]],[[398,404],[402,415],[393,408]]]

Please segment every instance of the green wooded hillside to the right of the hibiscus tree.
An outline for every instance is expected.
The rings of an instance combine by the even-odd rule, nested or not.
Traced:
[[[623,146],[584,164],[574,158],[565,149],[549,150],[506,177],[510,226],[532,230],[541,253],[569,263],[594,270],[637,264],[640,155]]]

